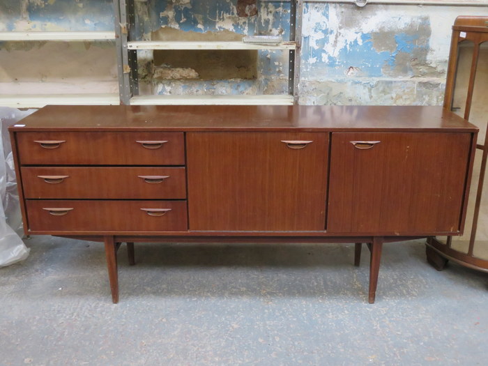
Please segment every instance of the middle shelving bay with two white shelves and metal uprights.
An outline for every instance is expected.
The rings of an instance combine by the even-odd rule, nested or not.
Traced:
[[[117,37],[120,38],[122,55],[119,66],[123,70],[121,79],[121,101],[130,105],[293,105],[298,102],[298,79],[300,71],[300,42],[303,0],[290,0],[290,40],[280,44],[254,44],[241,41],[153,41],[137,40],[135,0],[114,0],[119,2],[116,14]],[[261,0],[266,1],[266,0]],[[243,34],[243,37],[245,35]],[[119,40],[118,40],[119,42]],[[175,96],[175,95],[139,95],[139,75],[137,51],[139,50],[176,50],[176,49],[254,49],[281,50],[289,52],[288,94],[285,95],[213,95],[213,96]]]

